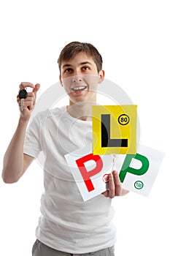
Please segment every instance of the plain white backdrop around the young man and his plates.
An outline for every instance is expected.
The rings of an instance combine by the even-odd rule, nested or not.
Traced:
[[[68,42],[91,42],[104,59],[106,78],[138,105],[140,143],[166,152],[149,197],[112,200],[116,255],[169,254],[169,0],[15,0],[0,4],[0,165],[18,124],[21,81],[58,82],[58,55]],[[0,180],[0,254],[30,256],[43,192],[34,162],[17,184]]]

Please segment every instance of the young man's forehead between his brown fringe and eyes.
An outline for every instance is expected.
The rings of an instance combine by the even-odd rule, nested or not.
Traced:
[[[74,58],[69,59],[67,61],[61,61],[61,68],[65,66],[79,66],[87,62],[88,64],[96,65],[93,61],[93,57],[88,55],[87,53],[80,52],[77,53]]]

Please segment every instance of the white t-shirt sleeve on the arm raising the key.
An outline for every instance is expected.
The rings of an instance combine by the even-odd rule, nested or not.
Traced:
[[[36,115],[28,126],[23,145],[23,153],[37,158],[42,151],[41,147],[41,118]]]

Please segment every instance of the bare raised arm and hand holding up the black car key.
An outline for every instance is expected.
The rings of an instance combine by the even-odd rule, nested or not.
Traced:
[[[25,87],[31,87],[33,88],[33,91],[29,92],[28,97],[24,100],[24,108],[23,111],[20,110],[18,127],[11,142],[9,143],[6,153],[4,154],[2,178],[5,183],[17,182],[34,159],[34,157],[23,154],[23,143],[31,111],[35,105],[36,91],[39,90],[39,84],[34,86],[31,83],[21,83],[21,86],[22,89]],[[19,97],[18,105],[20,106]]]

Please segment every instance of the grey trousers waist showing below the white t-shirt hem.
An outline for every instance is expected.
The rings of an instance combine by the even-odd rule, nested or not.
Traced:
[[[61,252],[49,246],[42,244],[39,240],[36,240],[32,248],[32,256],[114,256],[114,246],[101,249],[97,252],[88,252],[83,254],[72,254],[68,252]]]

